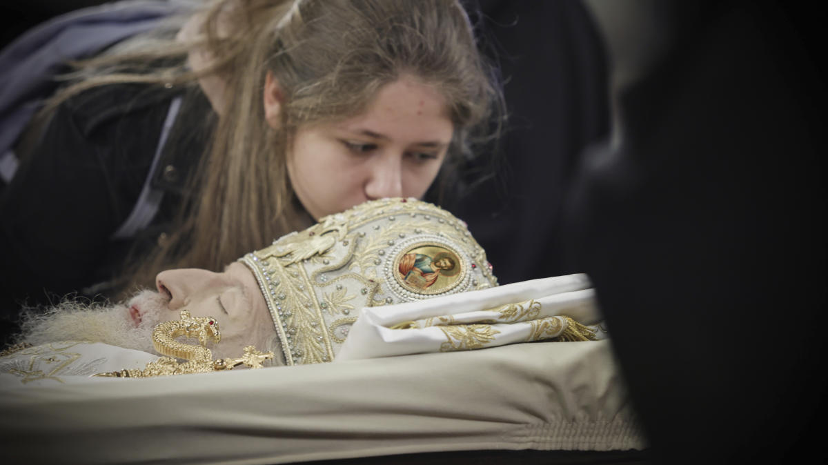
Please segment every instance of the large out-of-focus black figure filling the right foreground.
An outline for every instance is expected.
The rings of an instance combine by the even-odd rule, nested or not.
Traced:
[[[594,280],[657,458],[820,462],[824,15],[630,3],[670,27],[638,44],[655,55],[619,89],[619,146],[580,166],[570,264]]]

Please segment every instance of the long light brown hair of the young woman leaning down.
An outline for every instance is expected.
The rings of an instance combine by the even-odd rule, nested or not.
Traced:
[[[218,270],[306,226],[286,170],[291,134],[359,114],[401,74],[445,97],[455,125],[450,160],[498,132],[503,119],[497,79],[456,0],[221,0],[194,14],[204,18],[199,40],[176,42],[175,26],[156,32],[148,46],[81,64],[84,79],[53,101],[102,84],[194,85],[210,75],[224,83],[227,98],[190,181],[191,200],[166,243],[128,275],[132,283],[150,284],[171,267]],[[191,50],[206,50],[207,69],[185,66]],[[141,64],[146,69],[135,72]],[[279,131],[264,116],[267,71],[284,97]]]

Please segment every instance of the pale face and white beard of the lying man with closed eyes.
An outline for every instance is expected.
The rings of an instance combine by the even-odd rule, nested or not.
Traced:
[[[179,319],[181,309],[187,309],[192,316],[210,316],[219,322],[221,343],[208,346],[214,357],[239,357],[248,345],[278,350],[267,304],[253,273],[243,264],[233,263],[221,273],[163,271],[156,276],[156,286],[158,292],[144,290],[126,303],[66,301],[46,314],[29,314],[23,339],[33,344],[92,341],[154,352],[152,329],[162,321]]]

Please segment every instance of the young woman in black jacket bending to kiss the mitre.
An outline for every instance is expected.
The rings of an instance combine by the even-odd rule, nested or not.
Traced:
[[[120,289],[219,270],[365,200],[421,198],[498,126],[455,0],[223,0],[171,24],[82,64],[19,144],[4,296],[108,280],[128,250]]]

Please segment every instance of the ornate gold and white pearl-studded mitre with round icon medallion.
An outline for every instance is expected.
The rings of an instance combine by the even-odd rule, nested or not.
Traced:
[[[498,285],[465,223],[416,199],[358,205],[239,261],[258,280],[286,365],[332,361],[363,307]]]

